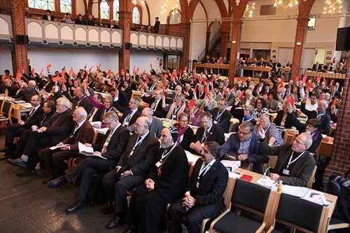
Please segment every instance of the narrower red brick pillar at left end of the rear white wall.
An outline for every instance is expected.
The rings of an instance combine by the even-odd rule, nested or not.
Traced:
[[[235,13],[234,13],[235,14]],[[230,83],[234,83],[234,76],[237,69],[237,52],[239,52],[239,46],[241,43],[241,27],[243,22],[241,20],[233,20],[231,27],[231,51],[230,51],[230,69],[228,71],[228,77]],[[233,43],[232,43],[233,42]]]

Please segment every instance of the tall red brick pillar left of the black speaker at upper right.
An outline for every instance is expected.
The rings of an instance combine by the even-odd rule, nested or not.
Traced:
[[[290,73],[291,80],[299,75],[300,66],[304,55],[305,41],[307,38],[307,22],[309,22],[309,14],[315,0],[299,1],[299,15],[297,17],[297,30],[295,33],[294,52],[292,71]],[[298,45],[297,45],[298,44]]]

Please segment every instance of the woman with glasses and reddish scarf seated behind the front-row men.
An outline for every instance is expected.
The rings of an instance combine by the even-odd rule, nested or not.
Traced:
[[[190,143],[195,141],[195,133],[193,129],[188,126],[188,115],[186,113],[179,113],[177,116],[177,123],[174,125],[179,132],[177,141],[182,146],[183,150],[190,150]]]

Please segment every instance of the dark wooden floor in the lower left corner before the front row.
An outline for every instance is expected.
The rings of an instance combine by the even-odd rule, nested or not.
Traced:
[[[0,147],[5,135],[0,132]],[[2,155],[0,153],[0,155]],[[104,227],[111,215],[104,216],[95,205],[66,215],[67,206],[76,200],[78,188],[64,185],[57,189],[41,183],[41,172],[37,176],[20,178],[20,170],[6,161],[0,161],[0,232],[123,232],[126,225],[114,230]]]

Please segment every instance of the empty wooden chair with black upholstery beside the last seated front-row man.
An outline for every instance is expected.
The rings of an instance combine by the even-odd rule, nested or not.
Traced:
[[[235,180],[231,205],[211,223],[209,232],[264,232],[274,203],[272,192],[254,183]],[[237,215],[231,211],[231,206],[262,217],[262,223]]]

